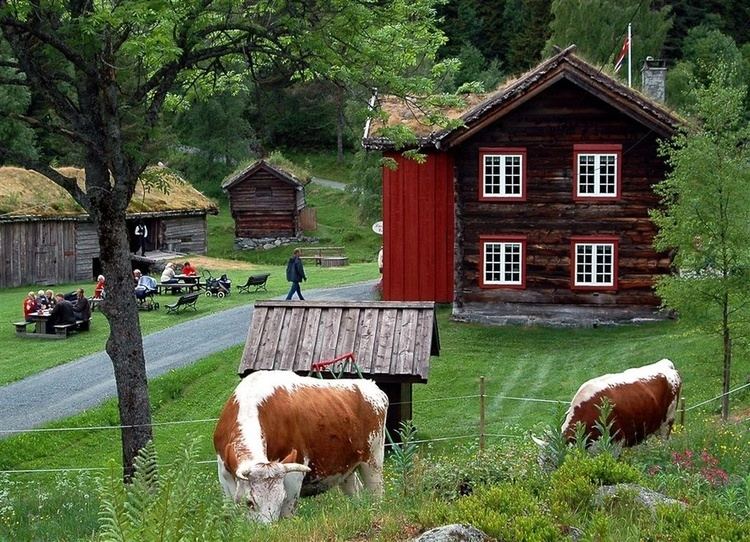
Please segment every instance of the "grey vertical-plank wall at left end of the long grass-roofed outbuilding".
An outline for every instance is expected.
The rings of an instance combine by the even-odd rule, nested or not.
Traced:
[[[0,286],[75,280],[73,220],[0,223]]]

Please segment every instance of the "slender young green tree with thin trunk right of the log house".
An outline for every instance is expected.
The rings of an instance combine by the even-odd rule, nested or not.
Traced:
[[[679,273],[656,291],[686,320],[722,338],[729,390],[732,340],[745,334],[750,292],[750,127],[746,86],[720,64],[694,90],[695,125],[662,147],[671,171],[656,186],[663,207],[651,213],[657,249],[674,251]],[[728,415],[728,397],[722,414]]]

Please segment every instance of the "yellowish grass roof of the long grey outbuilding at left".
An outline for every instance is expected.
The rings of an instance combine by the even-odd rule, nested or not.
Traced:
[[[84,186],[82,169],[62,167],[57,170],[68,177],[75,177],[78,184]],[[158,176],[159,184],[163,184],[166,190],[149,186],[148,178],[154,175]],[[218,211],[213,201],[167,168],[148,168],[142,181],[136,186],[128,213]],[[47,177],[27,169],[0,167],[0,218],[75,217],[85,214],[68,192]]]

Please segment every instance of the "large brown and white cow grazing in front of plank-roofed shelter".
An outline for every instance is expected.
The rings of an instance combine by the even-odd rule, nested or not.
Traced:
[[[364,483],[381,495],[387,410],[388,397],[370,380],[247,376],[214,431],[224,492],[264,523],[294,512],[306,474],[306,484],[353,495]]]

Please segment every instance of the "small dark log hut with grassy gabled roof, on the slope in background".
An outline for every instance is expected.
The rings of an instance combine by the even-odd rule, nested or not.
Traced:
[[[303,181],[266,160],[258,160],[227,178],[221,187],[229,197],[237,238],[301,235],[305,208]]]

